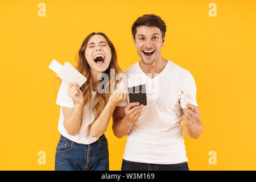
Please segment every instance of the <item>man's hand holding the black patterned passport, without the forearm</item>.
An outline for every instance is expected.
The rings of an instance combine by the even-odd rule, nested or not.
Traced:
[[[130,103],[125,107],[125,117],[123,121],[129,123],[129,125],[133,125],[138,121],[141,116],[143,104],[139,105],[139,102]]]

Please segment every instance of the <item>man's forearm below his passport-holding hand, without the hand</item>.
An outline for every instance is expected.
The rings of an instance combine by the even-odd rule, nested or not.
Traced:
[[[133,127],[133,125],[125,121],[125,118],[123,118],[115,119],[115,121],[113,122],[112,129],[115,137],[122,138],[123,136],[128,135],[130,133],[131,127]]]

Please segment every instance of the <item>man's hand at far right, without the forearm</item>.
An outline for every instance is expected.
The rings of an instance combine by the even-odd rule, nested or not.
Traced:
[[[200,111],[197,106],[192,104],[186,104],[186,107],[188,109],[183,109],[184,115],[183,115],[183,123],[186,127],[191,127],[196,122],[201,123],[200,119]]]

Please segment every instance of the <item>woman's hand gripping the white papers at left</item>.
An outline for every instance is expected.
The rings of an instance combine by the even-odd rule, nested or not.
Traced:
[[[72,98],[75,105],[81,105],[84,103],[84,95],[79,88],[79,84],[76,82],[70,82],[68,85],[68,96]]]

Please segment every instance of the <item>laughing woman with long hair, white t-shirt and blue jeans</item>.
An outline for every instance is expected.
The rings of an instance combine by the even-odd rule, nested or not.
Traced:
[[[110,83],[110,69],[114,69],[115,75],[122,72],[115,48],[105,34],[93,32],[82,42],[77,60],[77,70],[88,80],[81,88],[76,82],[68,85],[62,81],[60,85],[56,104],[61,106],[58,125],[61,136],[55,170],[109,170],[104,133],[115,106],[126,100],[123,90],[108,92],[111,84],[117,85],[117,81]],[[99,86],[102,83],[104,92]]]

